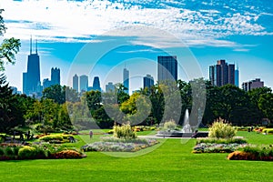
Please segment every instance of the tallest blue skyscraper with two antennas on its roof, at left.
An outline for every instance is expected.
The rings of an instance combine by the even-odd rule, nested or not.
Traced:
[[[40,57],[35,44],[35,54],[32,53],[32,38],[30,39],[30,55],[27,56],[27,72],[23,73],[23,93],[26,95],[37,94],[41,85]]]

